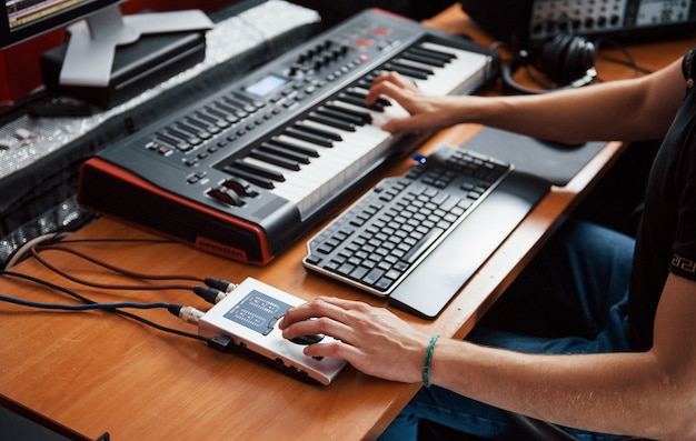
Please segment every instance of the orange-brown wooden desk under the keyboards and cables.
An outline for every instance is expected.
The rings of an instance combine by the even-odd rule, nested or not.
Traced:
[[[429,26],[465,31],[486,43],[455,6]],[[693,42],[676,41],[630,48],[652,69],[676,59]],[[612,68],[614,69],[614,68]],[[626,72],[605,78],[623,78]],[[614,77],[612,77],[614,76]],[[479,127],[461,124],[445,130],[422,147],[459,144]],[[609,142],[565,188],[554,188],[509,237],[474,279],[435,321],[395,311],[416,327],[446,337],[464,338],[476,320],[519,273],[549,233],[589,191],[617,153]],[[404,163],[390,173],[402,172]],[[209,255],[181,244],[103,243],[78,247],[109,262],[147,273],[213,275],[239,281],[255,277],[305,299],[319,294],[384,301],[307,273],[300,263],[305,240],[271,264],[257,268]],[[118,222],[99,220],[73,239],[149,238]],[[46,254],[61,268],[102,282],[122,282],[74,257]],[[13,270],[72,287],[99,301],[168,301],[205,308],[185,291],[105,292],[86,289],[49,272],[34,260]],[[46,289],[0,279],[0,293],[36,301],[66,299]],[[173,328],[187,324],[160,310],[141,315]],[[189,331],[196,332],[190,325]],[[374,439],[416,393],[420,384],[400,384],[346,369],[328,388],[306,384],[247,358],[220,353],[201,342],[165,334],[103,312],[42,312],[0,305],[0,392],[12,400],[96,438],[108,431],[112,440],[211,439]]]

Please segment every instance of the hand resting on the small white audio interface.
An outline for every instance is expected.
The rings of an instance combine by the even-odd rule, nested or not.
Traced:
[[[282,337],[321,333],[336,342],[307,345],[307,357],[344,359],[359,371],[387,380],[418,382],[429,335],[384,308],[321,297],[290,309],[280,321]]]

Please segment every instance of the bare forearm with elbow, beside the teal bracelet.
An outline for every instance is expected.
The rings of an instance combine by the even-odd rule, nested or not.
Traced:
[[[684,423],[694,414],[693,398],[683,397],[649,352],[536,355],[444,340],[436,345],[430,379],[564,425],[655,439],[694,435]]]

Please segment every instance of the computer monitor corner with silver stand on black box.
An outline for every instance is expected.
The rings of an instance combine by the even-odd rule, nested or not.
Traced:
[[[198,10],[122,16],[123,0],[4,0],[0,48],[67,27],[69,43],[60,67],[61,86],[108,87],[117,47],[143,34],[201,31],[212,27]],[[81,20],[83,19],[83,20]]]

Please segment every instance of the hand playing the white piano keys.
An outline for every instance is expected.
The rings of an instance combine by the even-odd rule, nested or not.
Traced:
[[[457,120],[459,97],[426,94],[398,72],[378,76],[368,91],[365,103],[372,104],[380,97],[395,100],[409,113],[405,118],[394,118],[381,127],[391,133],[434,131],[459,122]]]

